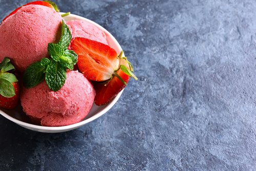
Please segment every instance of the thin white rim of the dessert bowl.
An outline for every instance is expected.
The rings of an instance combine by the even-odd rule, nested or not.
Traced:
[[[63,12],[59,12],[59,14],[64,14]],[[117,45],[117,47],[122,50],[121,46],[119,45],[118,41],[115,39],[115,37],[106,29],[104,29],[102,26],[98,25],[97,23],[93,22],[92,20],[88,19],[88,18],[84,18],[82,16],[79,16],[79,15],[75,15],[75,14],[70,14],[66,17],[73,17],[75,18],[76,20],[86,20],[87,22],[95,25],[96,27],[98,27],[99,29],[103,30],[106,34],[108,34],[108,36],[111,37],[111,39],[114,41],[115,45]],[[66,17],[62,17],[64,20]],[[67,20],[66,20],[67,21]],[[123,89],[124,90],[124,89]],[[33,130],[33,131],[39,131],[39,132],[46,132],[46,133],[51,133],[51,131],[55,131],[55,133],[57,132],[64,132],[64,131],[69,131],[69,130],[73,130],[73,129],[76,129],[77,127],[80,127],[84,124],[87,124],[97,118],[99,118],[100,116],[102,116],[103,114],[105,114],[106,112],[108,112],[113,106],[114,104],[117,102],[117,100],[120,98],[122,92],[119,92],[117,94],[117,96],[115,98],[113,98],[111,100],[110,103],[106,104],[105,105],[105,108],[103,108],[100,112],[98,112],[97,114],[93,115],[92,117],[88,118],[88,119],[85,119],[85,120],[82,120],[78,123],[74,123],[74,124],[71,124],[71,125],[66,125],[66,126],[41,126],[41,125],[35,125],[35,124],[31,124],[31,123],[27,123],[27,122],[23,122],[21,120],[18,120],[16,118],[13,118],[11,117],[10,115],[8,115],[7,113],[5,113],[4,111],[2,111],[0,109],[0,114],[2,116],[4,116],[5,118],[13,121],[14,123],[16,124],[19,124],[20,126],[23,126],[23,127],[26,127],[27,129],[30,129]],[[104,105],[103,105],[104,106]],[[49,131],[49,132],[48,132]],[[56,132],[57,131],[57,132]]]

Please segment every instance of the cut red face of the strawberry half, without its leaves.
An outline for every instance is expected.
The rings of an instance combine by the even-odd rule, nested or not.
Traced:
[[[78,55],[80,72],[92,81],[111,79],[119,68],[116,51],[101,42],[76,37],[71,41],[71,49]]]

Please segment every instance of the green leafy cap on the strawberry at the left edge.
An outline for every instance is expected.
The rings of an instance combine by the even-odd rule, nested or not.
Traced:
[[[14,74],[7,72],[14,70],[11,60],[5,57],[0,63],[0,94],[4,97],[15,96],[15,89],[12,83],[18,80]]]

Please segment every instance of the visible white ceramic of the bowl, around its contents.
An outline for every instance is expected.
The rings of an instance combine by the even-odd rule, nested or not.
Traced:
[[[60,13],[62,14],[62,13]],[[78,15],[70,14],[69,16],[63,17],[66,21],[68,20],[73,20],[73,19],[79,19],[79,20],[86,20],[89,23],[92,23],[99,29],[103,30],[106,33],[108,44],[110,47],[115,49],[118,53],[122,50],[121,46],[118,44],[117,40],[115,37],[113,37],[107,30],[105,30],[103,27],[100,25],[92,22],[91,20],[87,18],[83,18]],[[20,126],[25,127],[26,129],[33,130],[33,131],[38,131],[38,132],[44,132],[44,133],[60,133],[60,132],[66,132],[70,130],[74,130],[84,124],[87,124],[101,115],[105,114],[108,112],[112,106],[117,102],[119,97],[121,96],[123,91],[121,91],[110,103],[103,105],[103,106],[97,106],[93,104],[92,109],[90,113],[87,115],[86,118],[84,118],[81,122],[68,125],[68,126],[39,126],[39,125],[34,125],[29,123],[29,120],[26,116],[26,114],[22,111],[22,106],[18,105],[14,110],[0,110],[0,114],[3,115],[5,118],[17,123]]]

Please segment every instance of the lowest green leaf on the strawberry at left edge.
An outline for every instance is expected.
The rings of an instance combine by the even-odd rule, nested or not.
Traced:
[[[0,78],[0,94],[4,97],[15,96],[15,90],[10,81]]]

